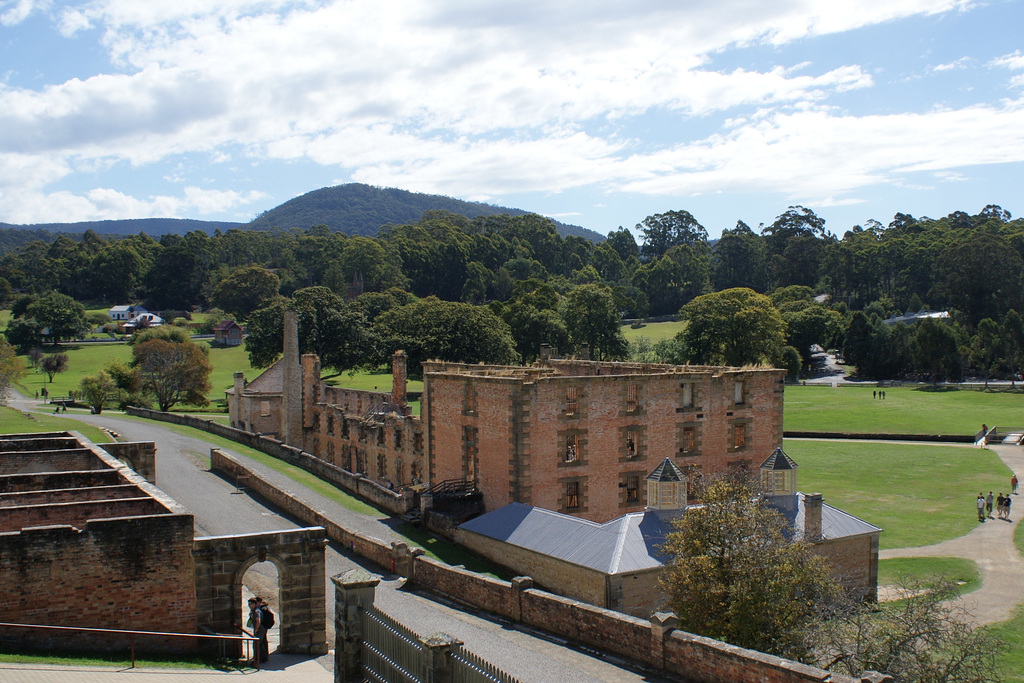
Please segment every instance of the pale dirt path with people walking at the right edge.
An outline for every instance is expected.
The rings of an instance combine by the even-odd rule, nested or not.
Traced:
[[[1024,449],[1001,444],[989,447],[1011,470],[1018,473],[1018,477],[1024,474]],[[1004,493],[1009,493],[1009,489],[1010,480],[1007,479]],[[964,500],[964,514],[975,515],[973,492],[966,492]],[[974,560],[981,571],[981,588],[963,597],[964,606],[970,610],[976,624],[1005,622],[1013,615],[1014,608],[1024,597],[1024,561],[1014,547],[1014,529],[1024,516],[1024,499],[1014,496],[1013,501],[1011,521],[989,519],[958,539],[933,546],[883,550],[879,553],[879,559],[963,557]],[[883,594],[882,587],[879,587],[880,598]]]

